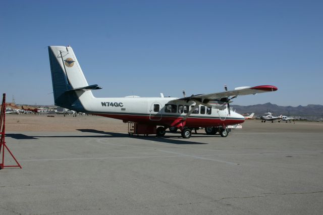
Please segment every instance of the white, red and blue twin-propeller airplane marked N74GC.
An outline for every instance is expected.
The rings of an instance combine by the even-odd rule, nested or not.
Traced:
[[[243,123],[245,118],[230,111],[232,98],[239,95],[276,91],[277,87],[261,85],[238,87],[219,93],[175,97],[96,98],[70,46],[48,46],[55,105],[76,112],[135,122],[156,128],[157,136],[164,136],[167,128],[179,128],[183,138],[190,138],[192,128],[217,128],[223,137],[228,125]],[[205,129],[207,130],[207,129]]]

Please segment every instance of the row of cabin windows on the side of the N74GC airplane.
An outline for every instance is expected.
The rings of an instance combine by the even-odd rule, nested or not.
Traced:
[[[194,107],[194,105],[191,105],[191,109]],[[177,112],[178,110],[178,112]],[[212,112],[211,108],[207,108],[205,106],[201,106],[201,110],[199,110],[199,106],[195,108],[195,110],[192,112],[192,114],[206,114],[210,115]],[[154,112],[159,112],[159,104],[153,104],[153,111]],[[176,104],[166,104],[165,105],[165,113],[179,113],[179,114],[187,114],[189,111],[189,105],[177,105]]]

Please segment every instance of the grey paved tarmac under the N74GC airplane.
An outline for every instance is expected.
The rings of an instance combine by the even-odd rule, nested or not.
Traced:
[[[245,124],[226,138],[8,132],[23,169],[0,170],[0,214],[322,214],[321,124]]]

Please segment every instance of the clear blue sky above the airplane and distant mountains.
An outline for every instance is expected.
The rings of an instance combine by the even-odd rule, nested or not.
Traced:
[[[48,45],[71,45],[97,97],[278,91],[233,104],[323,104],[322,1],[1,1],[0,93],[53,104]]]

